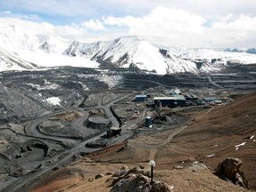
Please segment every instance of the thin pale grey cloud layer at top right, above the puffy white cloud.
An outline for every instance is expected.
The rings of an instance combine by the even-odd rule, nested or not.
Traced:
[[[158,6],[165,8],[176,7],[191,14],[200,15],[207,20],[220,19],[230,13],[235,15],[256,15],[256,1],[252,0],[232,0],[232,2],[230,0],[109,0],[108,2],[110,4],[118,4],[118,7],[123,11],[132,10],[134,12],[143,12],[143,14],[145,14],[145,11],[148,12],[148,10],[153,10]]]

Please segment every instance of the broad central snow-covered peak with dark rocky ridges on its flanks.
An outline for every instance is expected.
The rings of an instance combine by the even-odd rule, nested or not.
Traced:
[[[160,49],[137,36],[123,36],[108,42],[93,44],[74,41],[63,53],[96,60],[102,68],[106,66],[108,68],[140,68],[156,71],[157,74],[198,73],[216,70],[212,68],[200,69],[194,60],[182,58],[179,55],[180,52]]]

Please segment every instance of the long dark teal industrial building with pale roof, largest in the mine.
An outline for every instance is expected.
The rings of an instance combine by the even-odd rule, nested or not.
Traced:
[[[160,102],[162,107],[169,108],[184,107],[186,105],[186,99],[179,94],[172,97],[155,97],[154,104],[157,104],[157,102]]]

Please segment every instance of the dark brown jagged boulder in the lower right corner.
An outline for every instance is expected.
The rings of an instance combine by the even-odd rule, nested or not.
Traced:
[[[226,180],[231,180],[234,184],[249,189],[248,181],[244,177],[244,172],[239,169],[243,162],[235,157],[228,157],[221,161],[216,168],[216,172]]]

